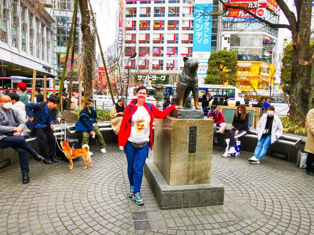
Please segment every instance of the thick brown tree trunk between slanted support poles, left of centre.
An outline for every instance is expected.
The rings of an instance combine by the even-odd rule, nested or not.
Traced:
[[[93,64],[94,64],[94,42],[95,37],[91,33],[90,13],[88,10],[87,0],[79,0],[79,8],[82,16],[82,44],[83,44],[83,84],[84,84],[84,99],[93,99]]]

